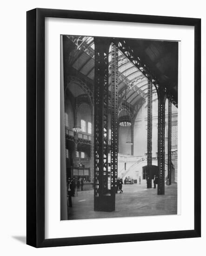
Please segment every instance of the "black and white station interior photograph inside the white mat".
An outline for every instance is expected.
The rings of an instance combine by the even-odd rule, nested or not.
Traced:
[[[180,43],[60,35],[61,220],[179,214]]]

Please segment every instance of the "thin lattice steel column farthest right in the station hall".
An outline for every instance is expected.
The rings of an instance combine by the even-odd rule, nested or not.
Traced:
[[[169,185],[172,182],[172,101],[168,99],[168,139],[167,139],[167,154],[168,154],[168,179]]]

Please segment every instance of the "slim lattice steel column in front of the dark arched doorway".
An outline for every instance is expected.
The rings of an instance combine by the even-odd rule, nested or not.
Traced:
[[[148,80],[147,91],[147,174],[148,188],[152,188],[153,84]]]

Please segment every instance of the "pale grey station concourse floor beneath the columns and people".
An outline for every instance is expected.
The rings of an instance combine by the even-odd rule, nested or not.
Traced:
[[[146,181],[141,184],[122,186],[123,193],[116,194],[115,211],[93,210],[93,189],[78,191],[72,197],[72,207],[68,207],[69,220],[96,219],[110,217],[155,216],[177,214],[177,183],[167,186],[165,195],[157,195],[156,189],[146,189]]]

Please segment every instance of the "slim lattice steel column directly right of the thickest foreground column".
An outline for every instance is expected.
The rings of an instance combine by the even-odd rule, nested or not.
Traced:
[[[113,43],[111,68],[111,195],[115,203],[118,168],[118,47]]]

